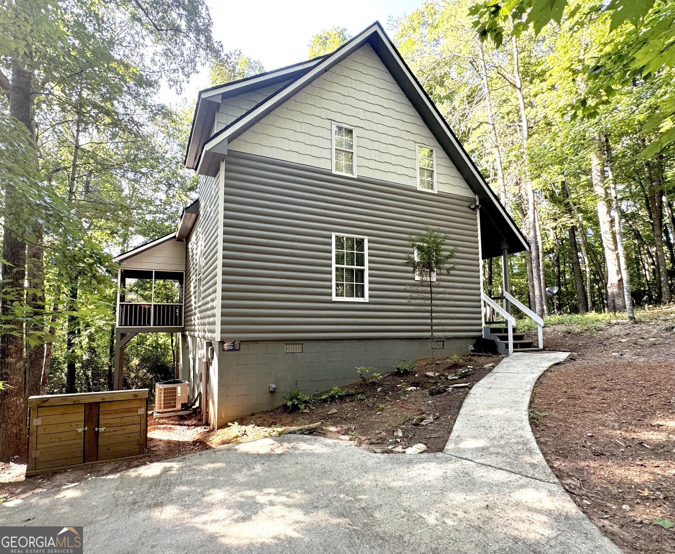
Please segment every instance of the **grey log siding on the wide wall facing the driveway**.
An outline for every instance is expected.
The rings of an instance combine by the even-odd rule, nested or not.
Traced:
[[[427,314],[408,302],[407,238],[449,233],[455,269],[439,328],[481,333],[477,216],[470,197],[230,152],[225,161],[221,339],[421,338]],[[334,302],[331,233],[369,238],[369,302]]]

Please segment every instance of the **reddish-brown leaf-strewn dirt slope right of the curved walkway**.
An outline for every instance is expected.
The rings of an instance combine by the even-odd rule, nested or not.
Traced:
[[[583,335],[544,331],[547,348],[578,357],[537,382],[535,437],[572,499],[626,554],[675,553],[675,528],[653,524],[675,522],[674,325],[666,312]]]

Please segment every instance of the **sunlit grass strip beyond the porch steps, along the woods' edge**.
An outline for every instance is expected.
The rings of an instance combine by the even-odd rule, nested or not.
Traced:
[[[675,305],[653,306],[647,308],[635,308],[635,318],[638,321],[670,321],[675,322]],[[574,335],[580,333],[593,333],[600,331],[610,323],[622,323],[628,321],[625,312],[612,314],[609,312],[589,312],[580,314],[560,314],[547,316],[544,318],[545,327],[551,325],[560,325],[565,333]],[[531,331],[537,329],[537,324],[530,318],[518,319],[516,321],[518,331]]]

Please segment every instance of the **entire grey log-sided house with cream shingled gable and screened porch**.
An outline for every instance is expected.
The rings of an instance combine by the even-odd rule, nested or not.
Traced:
[[[408,237],[450,233],[439,355],[483,335],[481,260],[528,248],[376,22],[329,55],[199,93],[175,233],[117,256],[121,350],[180,332],[180,377],[213,426],[429,357]],[[483,295],[484,296],[484,295]],[[488,299],[489,300],[489,299]]]

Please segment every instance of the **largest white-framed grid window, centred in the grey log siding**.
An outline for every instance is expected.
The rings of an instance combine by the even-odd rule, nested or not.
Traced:
[[[333,233],[333,300],[368,302],[368,239]]]

